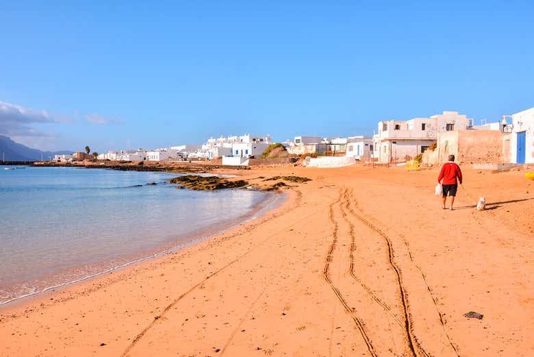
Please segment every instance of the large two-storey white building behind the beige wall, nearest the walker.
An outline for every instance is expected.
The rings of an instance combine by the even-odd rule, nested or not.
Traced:
[[[438,132],[467,130],[472,119],[458,112],[443,112],[408,121],[379,121],[373,136],[374,157],[379,162],[399,162],[423,153],[437,140]]]

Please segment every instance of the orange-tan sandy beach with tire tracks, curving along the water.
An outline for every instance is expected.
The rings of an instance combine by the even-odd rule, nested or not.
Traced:
[[[221,171],[312,181],[225,234],[3,308],[0,356],[533,356],[534,181],[462,169],[453,211],[437,169]]]

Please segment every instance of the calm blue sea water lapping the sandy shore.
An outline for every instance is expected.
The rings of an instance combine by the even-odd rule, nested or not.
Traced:
[[[166,184],[175,176],[0,166],[0,304],[190,245],[280,200],[179,190]]]

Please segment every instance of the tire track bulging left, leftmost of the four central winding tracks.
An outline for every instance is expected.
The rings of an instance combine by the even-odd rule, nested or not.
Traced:
[[[330,219],[331,223],[333,224],[332,243],[331,243],[331,245],[329,247],[329,250],[328,250],[328,253],[327,253],[325,269],[322,271],[322,275],[325,278],[326,282],[329,284],[329,286],[332,289],[332,291],[334,292],[335,296],[338,297],[338,300],[341,302],[341,304],[345,308],[346,312],[348,312],[348,314],[351,315],[351,318],[353,319],[354,323],[356,324],[356,327],[358,328],[359,333],[361,334],[361,338],[363,338],[364,339],[364,343],[366,343],[366,347],[368,349],[369,354],[372,357],[378,357],[377,356],[377,352],[374,351],[374,347],[372,346],[370,338],[369,338],[369,336],[368,336],[368,334],[367,334],[367,332],[366,332],[366,330],[364,328],[364,323],[362,323],[361,320],[359,319],[359,317],[357,317],[354,314],[353,309],[350,306],[348,306],[348,304],[347,304],[345,298],[343,297],[340,289],[333,284],[333,282],[332,282],[332,280],[330,278],[330,273],[329,273],[330,262],[333,259],[333,251],[335,249],[335,245],[338,243],[338,222],[335,221],[335,219],[334,219],[333,206],[335,204],[338,204],[340,201],[341,201],[341,190],[340,190],[340,195],[339,195],[338,199],[335,200],[332,204],[330,204],[330,208],[329,208],[329,219]]]

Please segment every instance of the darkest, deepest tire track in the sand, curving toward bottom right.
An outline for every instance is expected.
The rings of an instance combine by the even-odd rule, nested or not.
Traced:
[[[348,193],[346,193],[346,199],[347,199],[347,202],[348,202],[348,205],[347,205],[348,212],[350,212],[354,217],[356,217],[361,222],[363,222],[365,225],[367,225],[371,230],[373,230],[374,232],[377,232],[380,236],[382,236],[382,238],[385,241],[385,245],[387,247],[387,262],[390,264],[390,266],[393,268],[393,270],[394,270],[394,272],[396,274],[398,288],[399,288],[399,291],[401,293],[401,305],[403,307],[403,313],[404,313],[404,326],[405,326],[406,335],[408,337],[408,345],[409,345],[411,353],[413,354],[413,356],[416,356],[416,357],[418,357],[420,355],[422,355],[424,357],[431,357],[422,348],[422,346],[420,345],[419,341],[417,340],[417,338],[416,338],[416,336],[414,334],[414,327],[413,327],[413,325],[411,323],[411,317],[410,317],[410,314],[409,314],[409,311],[408,311],[408,306],[409,305],[408,305],[408,301],[407,301],[407,294],[406,294],[406,291],[405,291],[405,287],[403,285],[403,279],[402,279],[402,276],[401,276],[401,269],[399,269],[398,265],[394,261],[393,245],[391,243],[390,238],[384,232],[379,230],[378,227],[376,227],[375,225],[370,223],[370,221],[365,219],[365,217],[361,216],[361,214],[358,214],[357,212],[355,212],[355,210],[353,209],[353,207],[350,204],[351,200],[349,198],[350,197],[348,197]],[[416,351],[416,349],[417,349],[417,351]]]

